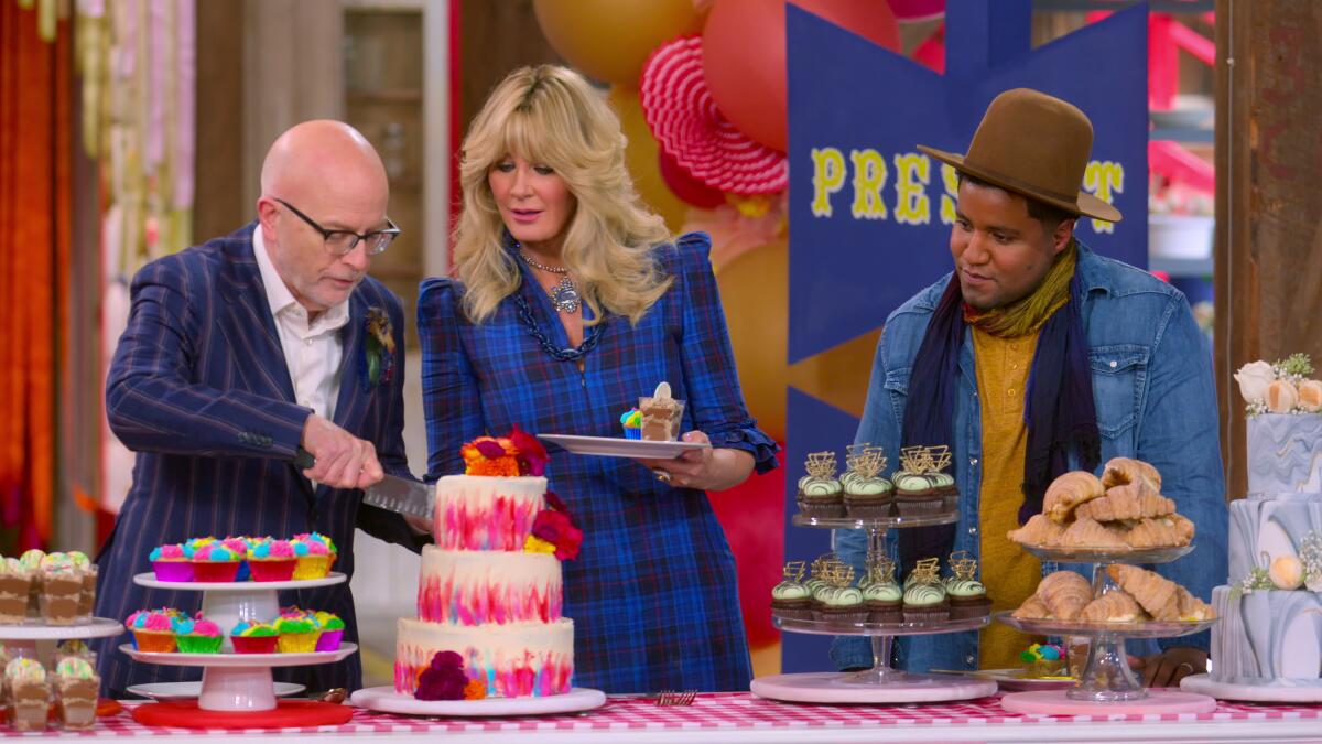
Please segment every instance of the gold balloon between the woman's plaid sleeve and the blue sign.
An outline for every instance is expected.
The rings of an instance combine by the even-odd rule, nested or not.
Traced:
[[[785,441],[789,335],[789,245],[769,242],[739,254],[717,274],[739,368],[739,387],[758,426]]]

